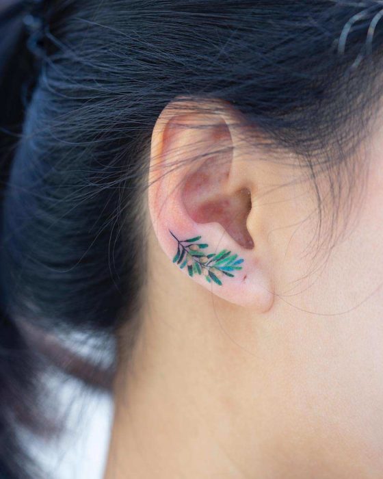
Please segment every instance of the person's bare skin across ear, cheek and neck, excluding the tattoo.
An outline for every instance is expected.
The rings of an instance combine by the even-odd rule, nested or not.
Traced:
[[[227,105],[202,118],[207,129],[182,109],[168,105],[153,131],[145,301],[129,357],[120,332],[105,479],[382,478],[382,126],[355,153],[368,171],[339,210],[335,246],[316,248],[313,184],[282,166],[298,158],[243,144]],[[188,165],[192,146],[212,152],[217,138],[233,148],[202,187],[190,166],[159,174],[175,151]],[[230,235],[211,207],[222,197],[243,218]],[[189,278],[169,227],[235,250],[246,281]]]

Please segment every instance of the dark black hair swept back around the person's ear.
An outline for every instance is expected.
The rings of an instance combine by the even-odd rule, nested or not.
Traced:
[[[381,93],[383,42],[380,1],[62,0],[43,5],[36,75],[21,5],[19,28],[5,34],[5,14],[0,24],[14,39],[0,75],[5,479],[37,477],[18,430],[40,421],[47,361],[67,365],[34,334],[114,337],[140,310],[147,153],[163,107],[176,96],[234,105],[270,148],[300,158],[319,216],[326,176],[336,218],[342,188],[358,182],[352,157]],[[68,374],[97,383],[96,366],[79,369]],[[101,387],[113,363],[104,374]]]

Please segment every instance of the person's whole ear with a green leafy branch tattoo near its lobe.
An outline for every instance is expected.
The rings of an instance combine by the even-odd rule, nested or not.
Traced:
[[[220,298],[268,311],[273,281],[258,178],[240,148],[240,121],[223,102],[170,103],[153,130],[148,207],[159,244],[180,274]]]

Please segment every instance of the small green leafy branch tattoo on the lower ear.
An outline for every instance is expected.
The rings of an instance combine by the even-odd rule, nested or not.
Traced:
[[[173,258],[173,263],[177,263],[181,270],[187,266],[189,276],[193,274],[203,274],[208,283],[214,281],[222,286],[222,276],[233,278],[236,270],[241,270],[242,258],[238,255],[232,255],[229,250],[221,250],[220,253],[204,253],[209,244],[196,243],[201,237],[195,236],[189,239],[178,239],[172,231],[170,234],[177,242],[177,252]],[[221,278],[221,279],[220,279]]]

